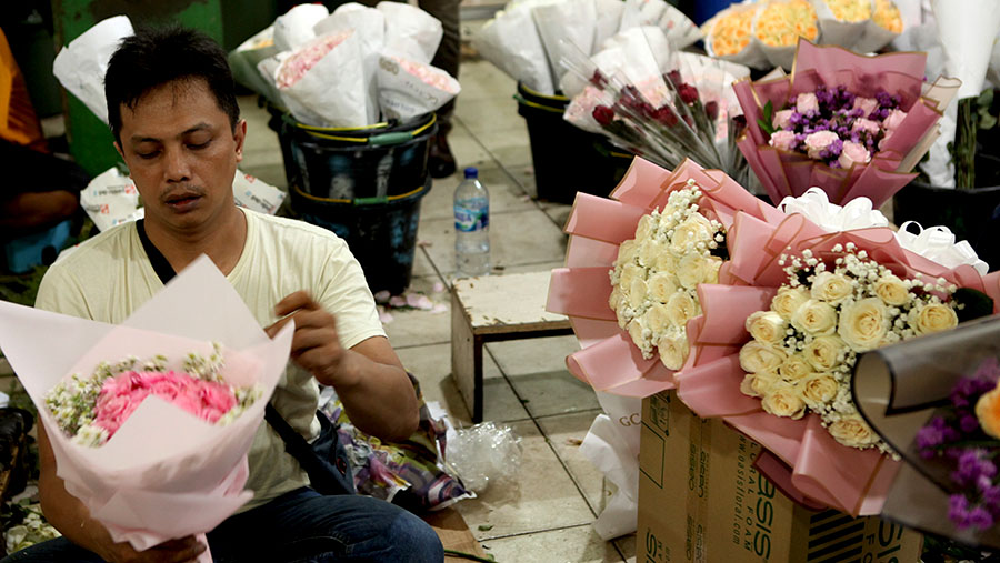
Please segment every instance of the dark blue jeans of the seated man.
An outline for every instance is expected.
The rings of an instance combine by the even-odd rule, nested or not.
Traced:
[[[323,496],[299,489],[229,517],[208,533],[216,563],[434,562],[441,541],[426,522],[394,504],[369,496]],[[102,563],[63,537],[21,550],[0,561]]]

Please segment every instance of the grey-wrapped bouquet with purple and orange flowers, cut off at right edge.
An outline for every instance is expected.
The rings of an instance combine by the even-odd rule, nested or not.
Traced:
[[[971,546],[1000,549],[1000,319],[868,352],[858,410],[903,465],[882,515]],[[947,517],[944,517],[947,515]]]

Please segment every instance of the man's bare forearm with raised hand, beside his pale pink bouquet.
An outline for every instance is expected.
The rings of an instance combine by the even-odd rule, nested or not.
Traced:
[[[333,315],[303,291],[281,300],[274,312],[288,316],[269,326],[268,334],[294,320],[292,360],[337,390],[356,426],[388,441],[404,440],[417,430],[417,393],[388,339],[372,336],[344,349]]]

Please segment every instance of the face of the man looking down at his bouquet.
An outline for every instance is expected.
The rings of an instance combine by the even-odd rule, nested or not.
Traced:
[[[232,179],[247,123],[236,131],[203,80],[170,82],[121,107],[120,144],[148,223],[181,234],[210,230],[233,208]]]

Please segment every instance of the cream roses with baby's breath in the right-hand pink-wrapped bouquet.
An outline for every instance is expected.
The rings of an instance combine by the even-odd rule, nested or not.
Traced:
[[[831,264],[832,269],[828,265]],[[864,423],[851,399],[857,354],[958,325],[944,279],[897,277],[853,243],[826,260],[811,250],[782,254],[788,282],[769,311],[747,319],[740,391],[777,416],[819,414],[841,444],[894,453]]]

